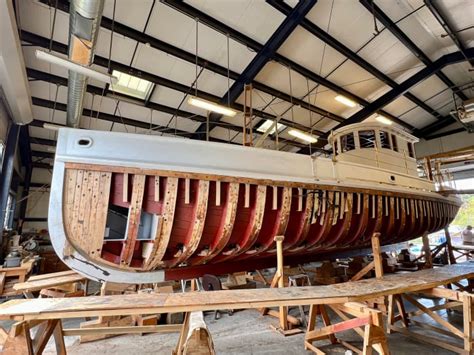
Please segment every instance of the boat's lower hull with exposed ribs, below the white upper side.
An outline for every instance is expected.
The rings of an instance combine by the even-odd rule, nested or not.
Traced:
[[[277,235],[285,236],[288,260],[317,260],[367,247],[374,232],[382,244],[435,232],[459,208],[456,199],[409,189],[85,163],[67,155],[59,151],[54,168],[52,242],[66,264],[97,280],[148,283],[217,274],[226,265],[270,267]],[[111,212],[126,216],[121,238],[110,237]],[[153,222],[144,237],[145,215]]]

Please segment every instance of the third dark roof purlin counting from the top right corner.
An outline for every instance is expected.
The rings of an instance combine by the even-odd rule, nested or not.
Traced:
[[[286,4],[282,0],[267,0],[267,3],[269,3],[271,6],[273,6],[275,9],[278,11],[282,12],[283,14],[287,14],[290,10],[291,7]],[[311,22],[308,19],[304,19],[303,22],[301,23],[301,26],[306,29],[308,32],[319,38],[321,41],[327,43],[329,46],[337,50],[339,53],[342,55],[346,56],[348,59],[356,63],[358,66],[375,76],[377,79],[382,81],[383,83],[387,84],[388,86],[394,88],[398,85],[398,83],[391,79],[388,75],[384,74],[377,68],[375,68],[372,64],[367,62],[365,59],[363,59],[361,56],[350,50],[348,47],[346,47],[343,43],[339,42],[337,39],[332,37],[328,32],[324,31],[320,27],[318,27],[316,24]],[[423,110],[426,112],[432,114],[435,116],[437,119],[443,119],[443,115],[441,115],[439,112],[436,110],[432,109],[429,105],[427,105],[425,102],[423,102],[421,99],[416,97],[410,92],[406,92],[403,94],[407,99],[415,103],[416,105],[420,106]]]

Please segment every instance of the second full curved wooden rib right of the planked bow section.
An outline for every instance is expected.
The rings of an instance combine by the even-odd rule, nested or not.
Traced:
[[[165,195],[160,216],[160,225],[156,230],[155,240],[149,257],[144,262],[145,270],[153,270],[161,265],[166,248],[170,241],[171,230],[176,209],[176,198],[178,196],[178,178],[166,178]]]

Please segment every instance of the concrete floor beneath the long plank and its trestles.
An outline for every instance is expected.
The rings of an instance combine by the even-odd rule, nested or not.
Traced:
[[[423,299],[422,303],[426,306],[431,306],[433,305],[433,300]],[[408,307],[408,309],[410,308]],[[297,315],[295,311],[297,309],[293,309],[291,312]],[[439,314],[457,327],[462,326],[462,316],[459,312],[455,311],[447,314],[446,311],[442,311]],[[427,317],[424,320],[430,322],[430,319]],[[64,327],[77,327],[81,321],[83,320],[66,321]],[[270,327],[271,324],[277,324],[276,318],[262,316],[256,310],[237,311],[232,316],[223,314],[218,320],[214,320],[212,312],[207,312],[206,323],[212,334],[217,354],[311,354],[311,352],[304,350],[304,334],[285,338]],[[432,334],[426,330],[420,333]],[[354,332],[340,334],[344,340],[352,341],[359,348],[361,347],[361,338],[356,336]],[[446,340],[451,340],[449,337],[439,334],[436,334],[436,337],[438,339],[446,338]],[[171,354],[177,341],[177,333],[149,334],[145,336],[123,335],[84,344],[80,344],[77,337],[67,337],[66,346],[70,355]],[[392,354],[396,355],[451,354],[450,351],[412,341],[400,334],[388,335],[388,342]],[[315,345],[319,346],[324,344],[326,342],[315,343]],[[459,344],[461,343],[459,342]],[[351,354],[351,352],[341,346],[326,347],[325,351],[328,354]],[[55,354],[52,342],[48,344],[44,353]]]

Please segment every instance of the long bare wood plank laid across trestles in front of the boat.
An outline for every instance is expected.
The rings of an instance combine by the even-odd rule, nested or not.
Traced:
[[[194,310],[337,304],[426,290],[474,277],[474,265],[454,264],[410,274],[385,275],[328,286],[231,290],[173,294],[90,296],[80,299],[11,300],[0,304],[0,319],[55,319],[87,316],[159,314]]]

